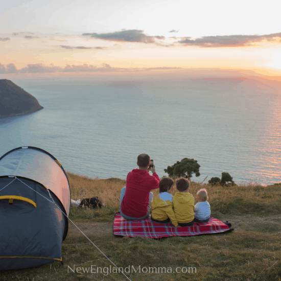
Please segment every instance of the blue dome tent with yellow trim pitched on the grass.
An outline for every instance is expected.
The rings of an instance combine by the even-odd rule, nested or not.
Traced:
[[[0,158],[0,269],[61,261],[71,202],[59,161],[36,147]],[[63,213],[65,215],[63,215]]]

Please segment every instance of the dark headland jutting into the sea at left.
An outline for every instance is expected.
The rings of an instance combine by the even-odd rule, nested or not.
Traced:
[[[0,118],[30,114],[43,107],[27,91],[10,80],[0,79]]]

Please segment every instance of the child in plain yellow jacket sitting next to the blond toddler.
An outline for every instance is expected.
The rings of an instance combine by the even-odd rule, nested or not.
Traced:
[[[188,192],[189,181],[180,178],[176,182],[177,192],[173,197],[174,213],[179,226],[194,224],[194,197]]]

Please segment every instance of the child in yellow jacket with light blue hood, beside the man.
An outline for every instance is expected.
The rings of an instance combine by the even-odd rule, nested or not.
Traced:
[[[168,223],[171,220],[173,225],[177,227],[178,222],[173,211],[173,185],[174,181],[171,178],[162,178],[160,180],[160,194],[151,202],[151,220],[159,223]]]

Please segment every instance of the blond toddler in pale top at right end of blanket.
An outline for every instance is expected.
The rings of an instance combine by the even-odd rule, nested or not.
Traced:
[[[197,192],[198,203],[194,206],[194,222],[208,222],[210,218],[210,204],[207,202],[208,193],[205,189]]]

